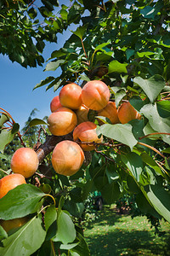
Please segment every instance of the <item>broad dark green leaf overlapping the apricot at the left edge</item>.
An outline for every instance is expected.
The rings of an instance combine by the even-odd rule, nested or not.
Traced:
[[[21,218],[37,212],[42,206],[44,195],[41,189],[31,184],[21,184],[9,190],[0,199],[0,218]]]

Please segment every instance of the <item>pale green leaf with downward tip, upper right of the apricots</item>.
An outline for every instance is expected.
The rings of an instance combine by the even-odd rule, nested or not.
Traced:
[[[134,83],[139,84],[152,103],[155,102],[156,97],[165,86],[165,80],[160,75],[154,75],[150,79],[136,77],[133,81]]]

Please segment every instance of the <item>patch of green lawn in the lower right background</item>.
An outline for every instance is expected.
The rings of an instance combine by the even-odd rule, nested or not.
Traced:
[[[163,236],[155,236],[146,217],[118,215],[113,207],[96,212],[99,218],[84,230],[91,256],[170,255],[170,224],[161,221]]]

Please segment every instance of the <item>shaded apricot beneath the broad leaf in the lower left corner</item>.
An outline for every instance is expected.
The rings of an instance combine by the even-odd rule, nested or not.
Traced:
[[[28,221],[27,217],[14,218],[14,219],[8,219],[8,220],[1,219],[0,220],[0,225],[3,227],[3,230],[8,232],[9,230],[19,228],[23,224],[26,224],[27,221]]]

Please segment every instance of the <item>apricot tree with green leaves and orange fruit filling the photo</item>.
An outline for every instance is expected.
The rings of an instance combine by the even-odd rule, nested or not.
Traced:
[[[91,191],[101,192],[108,204],[133,194],[142,212],[170,222],[170,3],[75,0],[69,6],[61,4],[57,15],[58,1],[42,1],[38,9],[35,3],[0,3],[1,52],[24,67],[41,65],[45,40],[56,41],[75,24],[77,29],[48,60],[45,71],[54,71],[54,76],[34,89],[46,85],[57,96],[61,87],[77,84],[83,91],[82,103],[74,109],[72,92],[67,103],[73,109],[60,102],[61,107],[56,98],[51,106],[60,108],[48,123],[31,120],[29,126],[43,125],[39,136],[42,131],[46,135],[45,143],[34,147],[37,172],[0,199],[2,221],[28,220],[17,230],[6,232],[0,226],[0,254],[87,256],[88,245],[72,216],[81,218],[83,201]],[[60,75],[55,76],[57,69]],[[104,90],[99,84],[105,84]],[[96,101],[101,108],[96,108]],[[106,110],[107,115],[109,102],[114,107]],[[112,115],[116,121],[109,118]],[[2,108],[0,128],[1,158],[16,136],[26,146],[20,125]],[[95,138],[87,135],[88,130]],[[82,151],[87,146],[93,150]],[[1,171],[1,176],[10,172]]]

